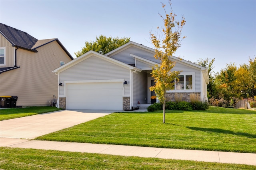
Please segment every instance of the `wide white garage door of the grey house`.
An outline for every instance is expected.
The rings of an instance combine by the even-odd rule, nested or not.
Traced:
[[[123,110],[122,82],[67,85],[66,109]]]

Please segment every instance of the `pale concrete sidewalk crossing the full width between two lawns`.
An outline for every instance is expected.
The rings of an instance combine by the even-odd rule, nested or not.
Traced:
[[[0,138],[0,146],[256,166],[256,154]]]

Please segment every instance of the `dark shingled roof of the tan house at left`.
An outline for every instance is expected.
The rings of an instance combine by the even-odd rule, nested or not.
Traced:
[[[50,42],[56,41],[61,46],[61,48],[68,54],[68,56],[73,60],[74,58],[70,55],[68,50],[61,44],[58,38],[38,40],[28,33],[12,28],[6,24],[0,23],[0,33],[12,44],[12,46],[29,50],[32,52],[38,52],[36,48],[44,46]]]

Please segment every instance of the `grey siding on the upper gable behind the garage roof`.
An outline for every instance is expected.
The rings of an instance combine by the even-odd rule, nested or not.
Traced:
[[[158,62],[154,58],[154,52],[150,53],[146,50],[142,50],[140,48],[136,48],[134,46],[131,46],[127,48],[126,50],[123,50],[122,52],[115,54],[114,56],[111,56],[111,58],[114,58],[120,62],[124,62],[126,64],[135,64],[134,57],[130,56],[130,54],[134,54],[136,56],[145,58],[147,60],[151,60],[153,62]]]

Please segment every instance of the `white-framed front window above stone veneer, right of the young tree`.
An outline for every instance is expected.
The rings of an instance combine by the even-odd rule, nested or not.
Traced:
[[[174,90],[194,90],[194,73],[184,73],[178,76],[179,81],[174,80]]]

